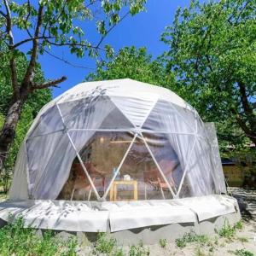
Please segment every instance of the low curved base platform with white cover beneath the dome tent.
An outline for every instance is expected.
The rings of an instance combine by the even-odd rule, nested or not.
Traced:
[[[11,218],[10,218],[11,216]],[[225,222],[240,220],[236,199],[207,195],[168,201],[4,201],[0,203],[0,226],[22,216],[25,226],[55,230],[56,236],[78,236],[95,241],[107,232],[119,244],[168,241],[194,231],[213,235]]]

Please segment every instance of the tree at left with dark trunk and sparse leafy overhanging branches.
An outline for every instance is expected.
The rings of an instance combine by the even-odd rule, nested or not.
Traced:
[[[109,57],[113,49],[110,45],[102,46],[104,38],[126,16],[142,11],[144,3],[146,0],[0,2],[0,55],[9,63],[7,73],[11,79],[10,104],[0,132],[0,165],[9,153],[20,113],[29,97],[67,79],[63,75],[58,79],[38,80],[38,55],[44,55],[51,47],[67,47],[78,57],[97,56],[100,51]],[[96,26],[97,42],[89,40],[91,24]],[[24,55],[27,65],[20,72],[19,61]]]

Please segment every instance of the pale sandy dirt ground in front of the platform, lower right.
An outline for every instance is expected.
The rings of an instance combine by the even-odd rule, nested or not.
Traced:
[[[186,242],[183,247],[178,247],[177,242],[161,242],[154,245],[138,245],[135,247],[114,247],[111,253],[101,253],[96,247],[106,247],[96,244],[95,247],[80,248],[79,255],[115,255],[115,256],[256,256],[256,221],[242,221],[242,228],[236,230],[231,236],[227,231],[226,236],[205,237],[201,241]],[[181,239],[182,240],[182,239]],[[179,245],[181,246],[181,245]]]

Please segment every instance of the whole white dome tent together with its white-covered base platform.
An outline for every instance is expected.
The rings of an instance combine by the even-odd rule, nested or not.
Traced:
[[[78,84],[38,113],[0,218],[22,214],[38,229],[84,232],[154,225],[159,241],[224,214],[230,224],[239,219],[225,193],[213,124],[171,90],[98,81]]]

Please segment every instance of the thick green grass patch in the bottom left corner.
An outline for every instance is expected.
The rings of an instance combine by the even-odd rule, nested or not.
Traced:
[[[0,255],[76,255],[77,241],[74,238],[61,241],[51,231],[40,237],[36,230],[24,227],[22,217],[14,224],[0,229]]]

